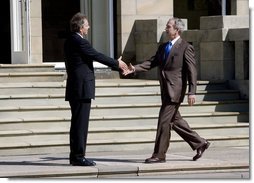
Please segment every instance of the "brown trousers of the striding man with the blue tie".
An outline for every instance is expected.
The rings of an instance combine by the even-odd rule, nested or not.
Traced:
[[[180,104],[163,102],[157,126],[153,157],[166,158],[170,144],[171,130],[180,135],[193,150],[201,147],[205,139],[193,131],[188,123],[181,117],[178,108]]]

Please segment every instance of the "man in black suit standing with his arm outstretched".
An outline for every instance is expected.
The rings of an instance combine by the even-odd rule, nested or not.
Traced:
[[[113,70],[128,69],[121,60],[114,60],[97,52],[84,39],[89,23],[85,15],[75,14],[70,21],[71,34],[64,44],[67,83],[65,100],[71,107],[70,164],[94,166],[95,162],[85,158],[86,142],[91,109],[91,99],[95,98],[95,76],[93,61],[98,61]]]

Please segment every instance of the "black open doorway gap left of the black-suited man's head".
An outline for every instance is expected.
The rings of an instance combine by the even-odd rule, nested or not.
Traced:
[[[80,0],[42,0],[43,62],[63,62],[63,44]]]

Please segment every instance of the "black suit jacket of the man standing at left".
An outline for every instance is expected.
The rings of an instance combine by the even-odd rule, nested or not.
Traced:
[[[67,83],[65,100],[95,98],[95,75],[93,60],[119,70],[119,63],[97,52],[91,44],[77,33],[71,34],[64,44]]]

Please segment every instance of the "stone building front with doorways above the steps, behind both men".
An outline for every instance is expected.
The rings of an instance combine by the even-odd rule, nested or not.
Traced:
[[[166,22],[175,16],[186,22],[183,37],[195,47],[199,79],[249,79],[249,0],[4,0],[1,7],[0,64],[63,63],[69,20],[79,11],[98,51],[139,63],[166,41]]]

